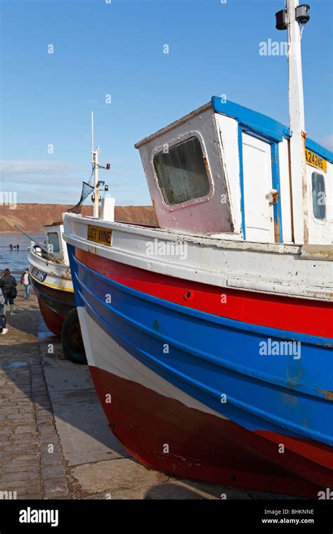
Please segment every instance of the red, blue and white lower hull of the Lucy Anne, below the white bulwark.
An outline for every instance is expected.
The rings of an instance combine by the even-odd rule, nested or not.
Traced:
[[[68,249],[91,374],[133,456],[230,486],[312,497],[332,486],[328,304],[188,282]],[[264,356],[262,341],[293,341],[301,352]]]

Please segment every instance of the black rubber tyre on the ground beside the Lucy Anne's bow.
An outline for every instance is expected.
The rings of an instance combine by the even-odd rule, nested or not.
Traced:
[[[79,363],[80,365],[87,363],[77,308],[73,308],[67,313],[63,322],[61,339],[63,341],[63,351],[67,360],[70,360],[73,363]]]

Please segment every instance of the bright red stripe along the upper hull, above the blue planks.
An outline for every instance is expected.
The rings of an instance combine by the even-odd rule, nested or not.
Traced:
[[[244,323],[333,337],[332,304],[328,302],[190,282],[145,271],[80,249],[75,249],[75,256],[107,278],[159,299]]]

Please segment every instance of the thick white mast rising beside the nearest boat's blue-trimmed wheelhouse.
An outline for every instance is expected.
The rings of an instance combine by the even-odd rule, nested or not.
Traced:
[[[299,0],[286,0],[288,36],[288,98],[290,138],[290,170],[292,181],[292,212],[294,242],[308,243],[308,191],[305,160],[305,119],[301,63],[301,31],[296,20]],[[302,22],[304,24],[305,22]],[[303,27],[303,26],[302,26]]]

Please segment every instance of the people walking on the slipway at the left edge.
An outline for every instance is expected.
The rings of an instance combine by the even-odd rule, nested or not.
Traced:
[[[25,298],[30,299],[29,269],[25,269],[25,272],[22,274],[21,284],[25,286]],[[4,273],[2,273],[0,289],[0,334],[4,335],[8,332],[8,328],[6,327],[8,306],[9,313],[15,315],[14,301],[18,296],[17,283],[9,269],[5,269]]]

